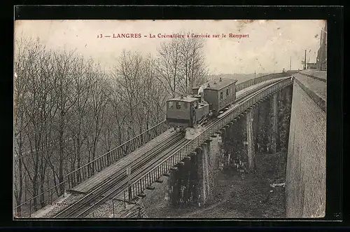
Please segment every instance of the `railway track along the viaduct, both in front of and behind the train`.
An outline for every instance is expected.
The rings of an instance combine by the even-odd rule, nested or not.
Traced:
[[[246,100],[246,97],[249,95],[256,93],[257,90],[263,90],[267,86],[271,86],[274,83],[278,82],[270,81],[269,83],[265,83],[261,86],[248,90],[246,93],[240,95],[234,104],[230,104],[226,107],[226,110],[233,109],[233,107],[241,104]],[[225,113],[225,111],[223,113]],[[222,113],[222,114],[223,114]],[[214,118],[204,125],[205,128],[210,127],[216,121],[220,120],[220,118]],[[131,174],[131,182],[134,179],[137,179],[144,175],[144,173],[152,170],[154,166],[162,162],[167,154],[173,150],[177,150],[187,144],[189,141],[183,138],[183,135],[176,134],[171,137],[167,137],[160,142],[160,146],[156,146],[155,149],[148,151],[145,153],[145,156],[138,158],[132,165],[131,170],[136,170],[136,172],[132,172]],[[141,167],[146,166],[146,169],[142,169]],[[126,168],[126,166],[125,166]],[[66,217],[85,217],[87,214],[90,214],[95,207],[98,205],[102,205],[106,201],[108,201],[111,197],[122,193],[128,187],[127,175],[125,173],[125,168],[119,170],[116,175],[113,175],[110,179],[107,180],[104,184],[98,185],[95,187],[90,193],[87,193],[86,196],[78,200],[76,203],[73,203],[66,209],[62,210],[58,214],[56,214],[55,218],[66,218]],[[101,198],[102,197],[102,198]],[[94,202],[94,203],[93,203]]]

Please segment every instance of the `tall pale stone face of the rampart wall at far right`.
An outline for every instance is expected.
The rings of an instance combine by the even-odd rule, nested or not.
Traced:
[[[293,83],[286,178],[287,217],[325,215],[325,111]]]

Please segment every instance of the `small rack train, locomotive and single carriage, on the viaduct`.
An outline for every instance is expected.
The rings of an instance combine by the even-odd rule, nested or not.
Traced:
[[[214,79],[193,88],[193,95],[167,100],[167,123],[176,131],[195,128],[218,116],[236,100],[235,79]]]

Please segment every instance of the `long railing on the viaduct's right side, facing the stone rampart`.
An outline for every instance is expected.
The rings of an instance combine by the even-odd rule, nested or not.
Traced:
[[[284,74],[286,75],[286,74]],[[170,155],[167,159],[159,163],[152,170],[146,172],[146,174],[139,177],[137,180],[132,182],[128,187],[129,191],[131,191],[132,199],[136,198],[139,193],[144,191],[148,186],[150,186],[153,182],[159,179],[162,175],[169,172],[171,168],[174,167],[177,163],[183,160],[189,153],[195,151],[197,147],[203,144],[207,139],[219,132],[221,128],[230,123],[231,121],[235,121],[235,118],[250,108],[256,102],[262,100],[264,97],[271,95],[272,93],[280,90],[281,88],[285,88],[289,86],[293,81],[291,79],[284,79],[274,85],[269,86],[265,90],[260,93],[256,93],[253,97],[249,98],[242,102],[239,107],[234,109],[230,114],[223,116],[216,123],[209,126],[209,128],[205,129],[200,135],[195,137],[195,139],[190,140],[185,145],[183,145],[180,149],[176,150],[172,155]]]

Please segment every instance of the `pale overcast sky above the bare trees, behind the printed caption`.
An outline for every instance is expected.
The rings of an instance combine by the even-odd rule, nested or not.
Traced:
[[[211,74],[237,74],[301,69],[304,50],[316,62],[323,20],[18,20],[15,36],[39,37],[48,48],[76,49],[109,69],[123,48],[156,55],[160,43],[149,34],[248,34],[248,38],[208,38],[204,55]],[[98,39],[102,34],[141,34],[141,39]],[[144,37],[147,35],[148,37]]]

